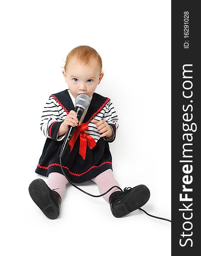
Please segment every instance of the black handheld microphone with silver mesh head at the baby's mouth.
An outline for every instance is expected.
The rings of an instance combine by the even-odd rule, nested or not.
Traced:
[[[89,96],[86,94],[79,94],[78,97],[75,99],[75,113],[78,115],[78,121],[80,121],[84,111],[86,108],[89,107],[90,99]],[[64,142],[60,151],[59,157],[63,157],[63,154],[66,152],[66,148],[69,145],[69,141],[71,140],[74,132],[75,132],[76,126],[69,125],[68,131],[66,132],[66,135],[64,137]]]

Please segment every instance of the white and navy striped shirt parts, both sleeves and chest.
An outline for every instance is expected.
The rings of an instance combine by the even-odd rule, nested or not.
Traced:
[[[75,98],[72,96],[72,94],[69,91],[69,95],[72,99],[72,102],[75,106]],[[92,100],[93,95],[90,97],[90,102]],[[89,108],[89,107],[88,107]],[[80,122],[82,123],[84,117],[86,116],[88,108],[85,109],[83,115],[81,116]],[[65,120],[67,116],[66,111],[58,104],[56,99],[53,96],[50,96],[48,99],[48,102],[46,102],[45,107],[43,108],[43,114],[41,116],[41,123],[40,123],[40,129],[43,132],[43,134],[47,138],[49,137],[49,128],[54,122],[62,122]],[[116,127],[116,130],[118,128],[118,115],[115,111],[115,108],[109,100],[106,105],[102,108],[100,112],[93,118],[95,120],[104,120],[107,123],[114,124]],[[111,125],[110,125],[111,126]],[[100,134],[98,132],[97,126],[92,122],[92,120],[88,123],[88,130],[85,130],[87,134],[89,134],[97,143],[100,139]],[[112,126],[111,126],[112,127]],[[112,129],[113,131],[113,129]],[[65,137],[65,134],[57,136],[57,141],[63,140]],[[112,141],[114,139],[114,131],[113,136],[111,138],[103,137],[106,141]]]

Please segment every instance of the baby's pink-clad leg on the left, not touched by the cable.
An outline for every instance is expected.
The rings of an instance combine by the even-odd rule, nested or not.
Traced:
[[[58,172],[51,172],[47,180],[49,188],[56,191],[60,195],[61,199],[65,195],[66,184],[68,183],[69,181],[66,177]]]

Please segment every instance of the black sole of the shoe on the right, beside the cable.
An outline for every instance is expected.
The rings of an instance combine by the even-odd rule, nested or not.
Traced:
[[[149,200],[149,197],[149,189],[144,185],[138,185],[132,189],[123,202],[115,204],[112,208],[112,214],[116,218],[121,218],[142,207]]]

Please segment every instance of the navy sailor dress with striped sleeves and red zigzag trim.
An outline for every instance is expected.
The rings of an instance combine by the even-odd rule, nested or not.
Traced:
[[[51,172],[63,174],[60,169],[59,154],[63,145],[64,136],[58,137],[58,131],[61,123],[67,114],[75,110],[75,106],[66,89],[62,92],[52,94],[43,111],[41,131],[47,137],[38,166],[35,170],[37,174],[48,177]],[[98,121],[105,120],[112,127],[113,138],[108,140],[106,137],[100,137],[97,126],[92,119]],[[109,143],[115,140],[118,128],[118,116],[111,100],[98,93],[93,93],[86,116],[83,123],[88,125],[85,132],[91,136],[95,146],[91,149],[87,143],[85,159],[79,154],[80,135],[70,152],[68,146],[66,152],[61,158],[63,171],[73,183],[83,183],[98,176],[107,169],[112,169],[112,155],[109,150]],[[78,129],[78,127],[76,128]]]

